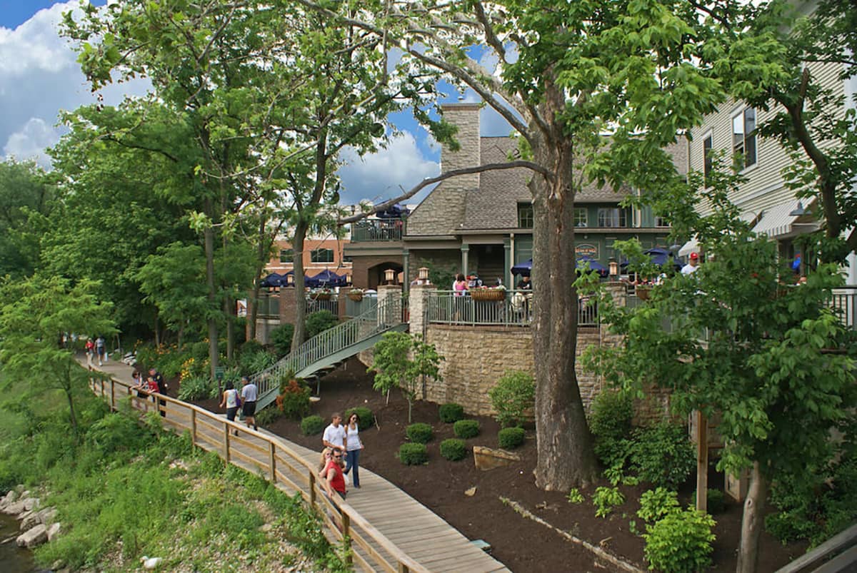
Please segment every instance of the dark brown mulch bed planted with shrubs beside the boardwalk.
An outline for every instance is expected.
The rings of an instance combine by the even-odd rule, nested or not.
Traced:
[[[218,401],[198,403],[202,407],[220,411]],[[513,571],[531,570],[618,570],[606,564],[577,544],[530,519],[518,515],[511,507],[500,501],[509,498],[523,505],[536,516],[555,528],[564,530],[580,539],[601,546],[627,562],[645,569],[643,558],[644,541],[638,534],[629,531],[629,522],[643,523],[636,516],[638,498],[647,486],[620,486],[626,503],[614,509],[611,516],[595,516],[591,496],[596,486],[609,486],[607,481],[590,486],[584,493],[582,504],[571,504],[565,493],[544,492],[536,488],[533,469],[536,466],[535,432],[527,431],[526,443],[516,452],[522,461],[505,468],[483,472],[476,469],[470,453],[461,462],[448,462],[440,456],[440,442],[454,437],[452,424],[439,421],[438,405],[417,402],[413,408],[413,421],[421,421],[434,427],[434,440],[428,444],[428,465],[405,466],[396,454],[405,443],[405,427],[408,425],[408,403],[399,391],[390,395],[390,403],[372,389],[372,377],[356,359],[345,367],[330,373],[321,381],[321,401],[313,406],[313,413],[330,419],[334,412],[366,406],[375,413],[377,427],[362,432],[365,449],[361,453],[361,466],[384,476],[396,486],[408,492],[422,504],[441,516],[471,540],[482,539],[491,545],[491,554]],[[475,416],[482,426],[482,433],[466,440],[467,445],[497,447],[499,425],[492,418]],[[321,451],[321,436],[304,436],[297,421],[279,418],[267,430],[290,439],[297,444]],[[710,486],[722,484],[722,475],[712,472]],[[472,497],[464,491],[476,486]],[[680,492],[682,504],[691,503],[693,484],[687,484]],[[710,571],[734,571],[735,551],[740,536],[741,505],[728,503],[727,510],[717,514],[714,544],[714,566]],[[769,534],[763,533],[759,548],[760,572],[775,571],[806,552],[806,543],[782,546]]]

